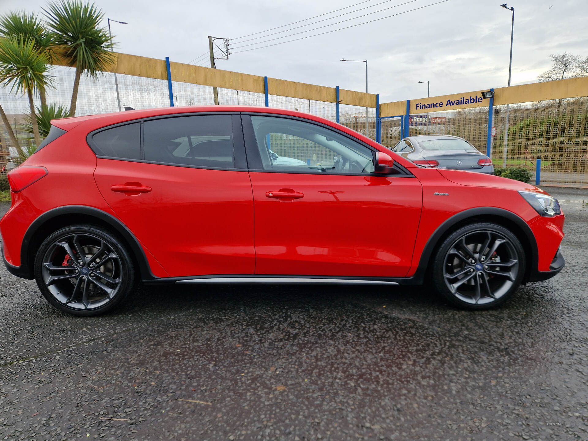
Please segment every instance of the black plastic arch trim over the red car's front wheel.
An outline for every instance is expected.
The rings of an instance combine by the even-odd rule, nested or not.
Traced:
[[[420,255],[419,265],[417,266],[415,275],[412,278],[422,281],[425,279],[425,273],[429,267],[430,260],[433,257],[433,253],[445,235],[452,229],[454,229],[460,223],[466,222],[469,219],[480,219],[483,216],[492,216],[490,219],[486,219],[487,222],[495,221],[496,218],[502,218],[507,222],[513,223],[519,228],[524,234],[524,242],[522,243],[523,248],[528,248],[531,255],[527,256],[527,268],[525,269],[525,276],[523,282],[529,280],[532,273],[537,271],[537,265],[539,262],[539,252],[537,249],[537,240],[533,234],[533,230],[530,226],[518,215],[512,211],[505,210],[497,207],[477,207],[470,208],[465,211],[459,212],[449,219],[446,219],[441,225],[437,227],[435,232],[430,236],[423,248],[423,252]],[[519,238],[520,240],[521,238]]]

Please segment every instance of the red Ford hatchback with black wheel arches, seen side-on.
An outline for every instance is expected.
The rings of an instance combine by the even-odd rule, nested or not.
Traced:
[[[207,106],[52,124],[8,173],[2,255],[75,315],[139,280],[432,282],[486,309],[564,265],[564,216],[539,188],[423,168],[318,116]]]

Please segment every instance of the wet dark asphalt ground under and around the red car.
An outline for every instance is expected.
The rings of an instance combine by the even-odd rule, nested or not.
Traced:
[[[482,312],[426,289],[210,286],[76,318],[2,266],[0,440],[586,440],[588,191],[548,191],[566,268]]]

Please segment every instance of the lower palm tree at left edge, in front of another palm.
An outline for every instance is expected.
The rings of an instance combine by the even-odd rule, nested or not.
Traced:
[[[47,55],[39,52],[31,38],[9,38],[0,41],[0,82],[12,84],[12,91],[26,93],[31,106],[31,119],[35,143],[41,144],[39,126],[35,115],[33,94],[40,88],[51,85]]]

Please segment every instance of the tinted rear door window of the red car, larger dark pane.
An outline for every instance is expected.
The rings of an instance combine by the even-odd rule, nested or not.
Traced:
[[[145,161],[234,168],[230,115],[196,115],[145,121]]]

